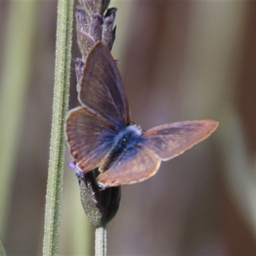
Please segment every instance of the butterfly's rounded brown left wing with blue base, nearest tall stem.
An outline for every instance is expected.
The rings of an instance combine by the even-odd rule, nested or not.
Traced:
[[[83,172],[99,166],[116,136],[108,123],[82,107],[68,113],[65,132],[74,162]]]

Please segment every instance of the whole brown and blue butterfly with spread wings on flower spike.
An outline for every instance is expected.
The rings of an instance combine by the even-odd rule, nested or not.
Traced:
[[[193,120],[143,132],[131,124],[116,61],[102,42],[97,42],[86,58],[78,99],[81,106],[69,111],[65,123],[68,147],[79,172],[98,168],[101,188],[152,177],[161,161],[179,156],[218,127],[213,120]]]

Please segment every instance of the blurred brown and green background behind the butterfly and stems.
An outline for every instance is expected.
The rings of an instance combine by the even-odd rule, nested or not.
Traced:
[[[256,3],[111,6],[118,8],[112,53],[132,121],[145,130],[204,118],[220,126],[151,179],[122,186],[108,255],[256,255]],[[56,13],[57,1],[0,1],[0,239],[7,255],[42,255]],[[73,58],[81,56],[75,32]],[[94,227],[68,152],[66,159],[60,255],[93,255]]]

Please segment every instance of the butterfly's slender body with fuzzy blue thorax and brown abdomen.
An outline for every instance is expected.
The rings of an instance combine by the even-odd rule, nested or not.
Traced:
[[[122,129],[118,134],[116,134],[115,143],[113,143],[113,148],[109,154],[103,159],[100,164],[100,172],[105,172],[109,167],[118,161],[118,158],[122,154],[133,147],[136,141],[141,138],[141,129],[136,125],[128,125]]]

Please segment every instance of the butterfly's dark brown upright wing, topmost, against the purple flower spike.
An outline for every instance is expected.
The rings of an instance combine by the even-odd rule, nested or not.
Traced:
[[[130,122],[129,103],[111,53],[97,42],[87,56],[79,100],[88,111],[116,129]]]

